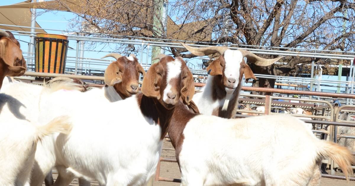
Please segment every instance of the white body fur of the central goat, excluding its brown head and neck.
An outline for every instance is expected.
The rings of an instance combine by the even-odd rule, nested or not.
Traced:
[[[142,115],[135,96],[112,103],[79,103],[77,98],[81,94],[57,91],[43,105],[41,115],[44,120],[58,113],[70,114],[73,129],[70,136],[53,136],[54,147],[51,145],[53,142],[49,142],[49,148],[38,146],[42,149],[38,152],[46,154],[39,162],[46,164],[40,165],[42,171],[49,171],[56,162],[58,171],[64,177],[70,177],[70,173],[95,179],[101,185],[146,184],[154,174],[160,157],[162,140],[159,125]],[[95,115],[82,117],[84,113],[93,112]],[[127,139],[130,141],[125,142]]]

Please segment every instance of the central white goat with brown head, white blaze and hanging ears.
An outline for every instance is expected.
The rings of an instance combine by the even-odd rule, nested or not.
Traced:
[[[57,91],[48,98],[41,118],[46,121],[67,113],[73,123],[69,136],[44,139],[49,146],[37,151],[42,152],[38,164],[45,174],[54,164],[60,172],[54,185],[68,185],[74,176],[95,179],[100,185],[148,182],[174,105],[180,98],[189,104],[195,89],[183,59],[168,56],[149,68],[141,90],[144,95],[119,102],[81,102],[82,93],[76,91]],[[95,115],[82,117],[87,112]]]

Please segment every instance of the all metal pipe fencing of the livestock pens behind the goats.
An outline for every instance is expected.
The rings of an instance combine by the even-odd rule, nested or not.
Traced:
[[[51,29],[48,29],[51,30]],[[53,30],[53,29],[52,29]],[[16,36],[23,38],[27,38],[28,36],[34,36],[35,33],[31,32],[20,32],[20,31],[13,31],[16,32]],[[112,43],[112,44],[130,44],[135,46],[140,46],[141,50],[140,56],[140,63],[142,64],[143,68],[147,70],[150,66],[149,64],[149,53],[151,51],[151,46],[160,46],[160,47],[182,47],[181,45],[175,43],[175,40],[170,40],[168,42],[160,42],[160,41],[152,41],[148,40],[147,38],[132,38],[127,39],[126,36],[122,36],[119,39],[107,39],[103,38],[102,34],[95,34],[94,36],[80,36],[80,35],[69,35],[69,40],[74,41],[77,43],[76,49],[76,56],[67,56],[67,67],[65,68],[65,74],[52,74],[52,73],[37,73],[37,72],[26,72],[23,77],[18,77],[17,79],[27,80],[32,83],[42,83],[46,79],[51,77],[58,77],[58,76],[65,76],[69,78],[78,78],[78,79],[87,79],[87,80],[94,80],[96,83],[104,80],[104,77],[101,76],[90,76],[90,75],[78,75],[78,74],[85,74],[85,72],[92,73],[94,75],[100,75],[100,73],[104,72],[103,68],[96,68],[92,67],[93,65],[100,65],[100,66],[107,66],[109,64],[109,60],[100,60],[97,58],[84,58],[78,57],[79,50],[79,42],[80,41],[88,41],[93,43]],[[118,36],[119,37],[119,36]],[[144,40],[147,39],[147,40]],[[152,39],[152,38],[149,38]],[[203,45],[194,45],[194,46],[203,46]],[[232,49],[237,49],[239,46],[237,45],[230,45]],[[252,47],[252,46],[248,46]],[[69,49],[75,50],[75,49]],[[249,49],[248,49],[249,50]],[[300,78],[300,77],[282,77],[282,76],[273,76],[273,75],[264,75],[264,74],[255,74],[257,78],[270,78],[275,79],[275,85],[284,86],[286,89],[273,89],[273,88],[255,88],[255,87],[248,87],[244,86],[241,90],[243,94],[240,95],[240,103],[245,103],[249,105],[258,105],[258,106],[265,106],[265,112],[260,113],[256,111],[242,111],[237,110],[238,112],[249,112],[249,113],[257,113],[257,114],[277,114],[272,113],[272,109],[275,107],[299,107],[304,109],[312,109],[314,115],[305,116],[305,115],[297,115],[297,117],[306,117],[306,118],[313,118],[316,120],[305,120],[306,123],[317,124],[317,125],[329,125],[328,130],[323,129],[322,127],[314,128],[313,132],[317,134],[325,134],[323,137],[329,141],[337,142],[339,137],[341,138],[354,138],[354,136],[348,136],[344,134],[337,134],[337,126],[351,126],[355,127],[355,123],[351,122],[343,122],[338,120],[338,112],[343,110],[346,107],[352,107],[355,101],[355,95],[353,94],[353,84],[354,84],[354,68],[353,68],[353,55],[346,55],[346,54],[332,54],[325,55],[321,53],[322,51],[312,51],[312,52],[305,52],[299,51],[298,49],[292,49],[294,51],[275,51],[273,49],[250,49],[254,53],[258,54],[272,54],[272,55],[283,55],[283,56],[312,56],[317,58],[330,58],[330,59],[342,59],[350,61],[350,80],[347,81],[336,81],[336,80],[327,80],[327,79],[316,79],[313,77],[313,72],[311,78]],[[87,50],[94,51],[94,50]],[[111,52],[111,51],[97,51],[97,52]],[[316,53],[319,52],[319,53]],[[144,55],[143,55],[144,53]],[[28,60],[28,69],[31,71],[34,68],[34,56],[31,52],[23,51],[23,56]],[[103,56],[103,55],[102,55]],[[143,57],[144,56],[144,57]],[[101,56],[100,56],[101,57]],[[145,58],[145,59],[144,59]],[[90,67],[90,65],[92,65]],[[192,64],[188,63],[189,67],[191,68],[191,72],[195,77],[195,86],[198,91],[201,86],[204,85],[205,80],[207,79],[207,72],[204,69],[192,69],[196,68]],[[314,68],[314,63],[312,69]],[[244,82],[244,81],[243,81]],[[326,84],[332,84],[329,86],[335,86],[339,88],[345,88],[344,93],[350,94],[337,94],[337,93],[329,93],[329,92],[322,92],[322,86],[327,86]],[[245,84],[244,84],[245,85]],[[87,83],[85,85],[86,88],[95,88],[101,87],[103,85],[100,84],[91,84]],[[314,91],[304,91],[304,90],[312,90],[313,87],[317,87],[317,92]],[[308,88],[309,87],[309,88]],[[294,90],[289,90],[289,89]],[[251,92],[268,92],[268,93],[275,93],[275,94],[283,94],[283,95],[302,95],[301,98],[291,98],[291,97],[283,97],[284,100],[294,100],[306,103],[290,103],[284,102],[280,103],[277,101],[273,101],[273,99],[277,99],[279,97],[276,96],[263,96],[263,95],[254,95],[254,94],[247,94]],[[309,97],[309,99],[308,99]],[[336,105],[332,105],[329,100],[332,100],[332,97],[341,98],[342,103],[346,105],[343,107],[337,107]],[[254,98],[254,99],[251,99]],[[88,100],[83,100],[88,101]],[[312,104],[311,104],[312,103]],[[304,105],[302,105],[304,104]],[[348,106],[351,105],[351,106]],[[274,108],[273,108],[274,107]],[[247,117],[245,115],[237,114],[236,117]],[[328,136],[328,137],[327,137]],[[169,137],[168,135],[166,137]],[[164,151],[174,151],[173,148],[170,147],[163,147]],[[174,158],[167,158],[162,157],[161,161],[165,162],[176,162]],[[323,163],[328,164],[331,170],[330,175],[322,174],[323,177],[330,177],[334,179],[344,179],[344,177],[335,175],[335,169],[337,165],[331,159],[324,159]],[[160,165],[160,162],[159,162]],[[155,174],[155,180],[157,181],[173,181],[179,182],[179,178],[166,178],[160,176],[160,166],[158,166],[157,173]],[[178,170],[177,170],[178,171]],[[354,180],[352,177],[350,180]]]

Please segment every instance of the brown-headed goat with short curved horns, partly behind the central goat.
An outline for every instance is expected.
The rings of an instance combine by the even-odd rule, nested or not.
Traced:
[[[145,71],[143,67],[139,64],[135,55],[131,55],[130,57],[121,56],[118,53],[110,53],[104,57],[114,57],[116,61],[109,64],[107,69],[105,70],[105,84],[106,86],[102,89],[92,89],[89,91],[84,92],[81,94],[81,100],[92,100],[95,101],[102,101],[102,102],[115,102],[124,100],[127,97],[130,97],[138,92],[138,79],[139,73],[142,73],[143,76],[145,75]],[[103,58],[104,58],[103,57]],[[72,83],[72,79],[70,78],[59,78],[56,79],[58,81],[65,81],[67,83]],[[54,81],[55,82],[55,81]],[[80,88],[82,84],[79,84]],[[85,90],[85,88],[83,88]],[[50,141],[50,140],[47,140]],[[45,156],[46,151],[44,148],[49,144],[39,144],[38,146],[38,153],[36,153],[36,162],[43,159]],[[51,148],[54,148],[51,146]],[[53,159],[52,159],[53,160]],[[43,160],[44,161],[44,160]],[[51,162],[49,162],[50,164]],[[44,179],[44,173],[47,172],[47,166],[43,168],[40,167],[42,164],[35,164],[34,172],[36,174],[32,175],[32,182],[31,185],[41,185],[42,180]],[[44,171],[40,171],[44,169]],[[60,175],[59,175],[60,177]],[[53,177],[51,176],[51,171],[47,176],[45,176],[46,185],[52,185]],[[82,178],[79,178],[80,186],[83,185],[90,185],[89,182],[85,181]]]

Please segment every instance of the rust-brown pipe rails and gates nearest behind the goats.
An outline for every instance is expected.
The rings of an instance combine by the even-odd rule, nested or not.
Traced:
[[[36,72],[26,72],[27,77],[21,77],[20,79],[30,79],[29,76],[37,76],[37,77],[58,77],[61,76],[59,74],[51,74],[51,73],[36,73]],[[70,75],[67,74],[65,75],[66,77],[70,77],[70,78],[81,78],[81,79],[91,79],[91,80],[103,80],[103,77],[95,77],[95,76],[85,76],[85,75]],[[87,84],[87,87],[91,87],[91,88],[95,88],[95,87],[100,87],[102,85],[99,84]],[[203,86],[202,83],[195,83],[196,87],[201,87]],[[257,92],[274,92],[274,93],[282,93],[282,94],[303,94],[303,95],[310,95],[310,96],[326,96],[326,97],[339,97],[339,98],[355,98],[355,95],[352,94],[337,94],[337,93],[326,93],[326,92],[310,92],[310,91],[295,91],[295,90],[284,90],[284,89],[268,89],[268,88],[253,88],[253,87],[242,87],[242,90],[247,92],[253,92],[253,91],[257,91]],[[247,98],[246,97],[255,97],[258,99],[254,99],[255,101],[258,101],[262,104],[260,105],[264,105],[265,106],[265,112],[264,113],[260,113],[257,112],[258,114],[279,114],[279,113],[272,113],[271,112],[271,107],[272,105],[275,105],[275,101],[272,101],[273,99],[277,99],[278,97],[276,96],[264,96],[264,95],[253,95],[253,94],[241,94],[240,95],[242,97],[242,99],[240,100],[240,102],[245,102],[247,103]],[[243,100],[243,98],[245,98],[245,100]],[[328,128],[328,130],[324,130],[322,128],[320,129],[316,129],[313,130],[314,133],[319,133],[319,134],[326,134],[329,137],[327,138],[327,140],[329,141],[333,141],[333,142],[337,142],[339,137],[342,138],[350,138],[350,139],[354,139],[354,136],[347,136],[347,135],[339,135],[337,134],[337,126],[351,126],[351,127],[355,127],[355,122],[344,122],[342,120],[338,119],[338,114],[340,110],[344,110],[344,108],[347,107],[352,107],[354,108],[355,106],[351,106],[351,105],[345,105],[342,107],[338,107],[337,105],[332,105],[331,103],[329,103],[328,101],[324,101],[324,100],[312,100],[312,99],[304,99],[304,98],[287,98],[287,97],[283,97],[284,100],[296,100],[296,101],[304,101],[304,102],[308,102],[307,105],[311,105],[309,104],[309,102],[313,102],[315,104],[313,104],[315,106],[315,109],[318,108],[318,110],[320,109],[325,109],[324,107],[327,108],[327,115],[324,115],[325,112],[321,112],[323,113],[323,115],[312,115],[312,116],[305,116],[305,115],[295,115],[296,117],[310,117],[310,118],[314,118],[314,119],[319,119],[319,120],[304,120],[306,123],[311,123],[311,124],[322,124],[322,125],[329,125],[330,127]],[[250,102],[249,102],[250,103]],[[292,104],[296,105],[299,103],[289,103],[289,102],[285,102],[284,104],[291,106]],[[316,105],[317,104],[317,105]],[[277,104],[275,105],[277,106]],[[309,107],[305,107],[305,108],[309,108]],[[238,112],[243,112],[242,110],[237,110]],[[245,111],[248,112],[248,111]],[[249,111],[249,112],[255,112],[255,111]],[[236,117],[247,117],[245,115],[240,115],[240,114],[236,114]],[[169,137],[169,135],[165,136],[166,138]],[[163,150],[165,151],[174,151],[173,148],[166,148],[163,147]],[[354,153],[354,152],[353,152]],[[354,153],[355,155],[355,153]],[[160,158],[160,162],[176,162],[175,158],[168,158],[168,157],[161,157]],[[162,177],[160,176],[160,162],[158,164],[158,168],[155,174],[155,180],[156,181],[170,181],[170,182],[179,182],[179,178],[167,178],[167,177]],[[328,164],[330,166],[330,170],[331,170],[331,174],[327,175],[327,174],[322,174],[322,177],[328,177],[328,178],[333,178],[333,179],[345,179],[344,176],[339,176],[339,175],[335,175],[335,168],[337,168],[337,164],[335,164],[331,159],[324,159],[323,163]],[[353,167],[354,168],[354,167]],[[354,177],[351,177],[350,180],[354,180]]]

